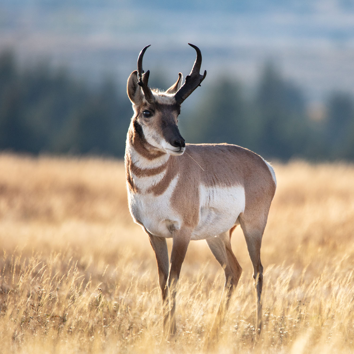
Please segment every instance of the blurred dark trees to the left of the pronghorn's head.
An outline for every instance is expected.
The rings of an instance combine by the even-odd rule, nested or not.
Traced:
[[[0,149],[124,154],[131,107],[112,80],[91,87],[47,63],[21,71],[15,59],[0,55]]]

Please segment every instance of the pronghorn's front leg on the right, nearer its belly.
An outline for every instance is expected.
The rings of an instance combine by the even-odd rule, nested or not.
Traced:
[[[169,279],[167,281],[170,292],[170,331],[169,336],[176,334],[176,291],[179,273],[181,272],[182,263],[187,252],[190,241],[190,232],[187,230],[175,230],[173,232],[171,264]]]

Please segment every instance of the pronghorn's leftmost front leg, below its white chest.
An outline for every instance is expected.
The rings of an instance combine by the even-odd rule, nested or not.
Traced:
[[[159,285],[162,295],[162,313],[164,318],[164,334],[169,333],[169,290],[167,289],[167,279],[169,276],[169,253],[167,251],[166,239],[154,236],[146,231],[149,235],[150,243],[156,256],[157,269],[159,272]]]

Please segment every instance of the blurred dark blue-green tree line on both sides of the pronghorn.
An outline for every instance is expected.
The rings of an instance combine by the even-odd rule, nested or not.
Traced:
[[[159,87],[169,87],[164,80]],[[0,149],[15,152],[122,157],[132,109],[112,79],[91,87],[46,63],[20,70],[11,51],[0,54]],[[264,66],[255,92],[220,78],[204,85],[194,109],[181,117],[187,142],[228,142],[286,161],[354,160],[354,97],[333,92],[325,115],[310,119],[301,87]]]

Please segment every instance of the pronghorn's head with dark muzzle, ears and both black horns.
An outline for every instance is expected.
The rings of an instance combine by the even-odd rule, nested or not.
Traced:
[[[189,43],[188,43],[189,44]],[[182,102],[198,87],[206,76],[200,75],[201,52],[198,47],[189,44],[196,51],[196,59],[189,75],[182,84],[182,74],[166,91],[150,89],[148,85],[149,70],[144,73],[143,56],[146,46],[138,57],[138,70],[133,71],[128,79],[127,93],[133,105],[132,118],[135,133],[147,143],[148,150],[161,151],[170,155],[182,155],[185,141],[178,130],[178,115]]]

